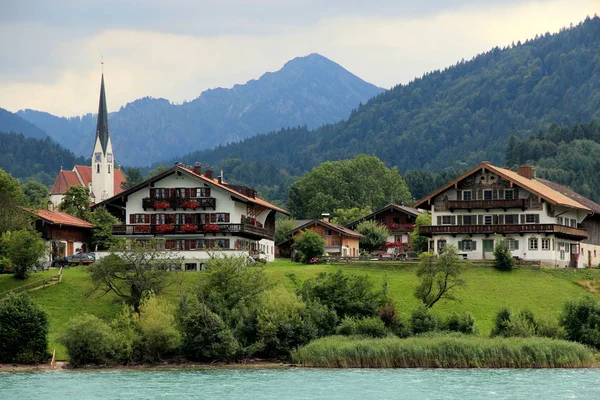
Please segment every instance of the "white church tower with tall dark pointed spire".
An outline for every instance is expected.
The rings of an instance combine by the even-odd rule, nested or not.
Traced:
[[[115,160],[108,131],[108,111],[104,92],[104,74],[100,83],[100,104],[98,105],[98,123],[96,141],[92,153],[92,202],[99,203],[115,195]]]

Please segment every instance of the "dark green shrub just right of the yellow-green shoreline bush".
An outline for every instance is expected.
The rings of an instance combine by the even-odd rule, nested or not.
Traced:
[[[192,360],[230,360],[239,344],[221,317],[193,297],[180,303],[179,323],[184,354]]]

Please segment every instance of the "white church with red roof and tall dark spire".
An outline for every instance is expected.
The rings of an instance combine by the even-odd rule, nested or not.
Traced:
[[[89,189],[91,204],[100,203],[121,193],[123,191],[121,184],[125,181],[123,171],[115,169],[115,158],[108,130],[104,74],[102,74],[96,140],[91,165],[76,165],[71,171],[61,169],[50,190],[50,202],[54,207],[58,207],[67,189],[80,185]]]

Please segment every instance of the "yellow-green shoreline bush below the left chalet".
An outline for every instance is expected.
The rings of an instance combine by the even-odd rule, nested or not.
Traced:
[[[140,314],[135,318],[151,360],[159,360],[161,354],[172,355],[177,352],[181,345],[181,334],[169,304],[151,296],[143,301]]]

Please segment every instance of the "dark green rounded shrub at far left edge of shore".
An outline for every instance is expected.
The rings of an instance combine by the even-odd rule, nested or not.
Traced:
[[[48,354],[48,317],[27,294],[0,299],[0,362],[41,363]]]

